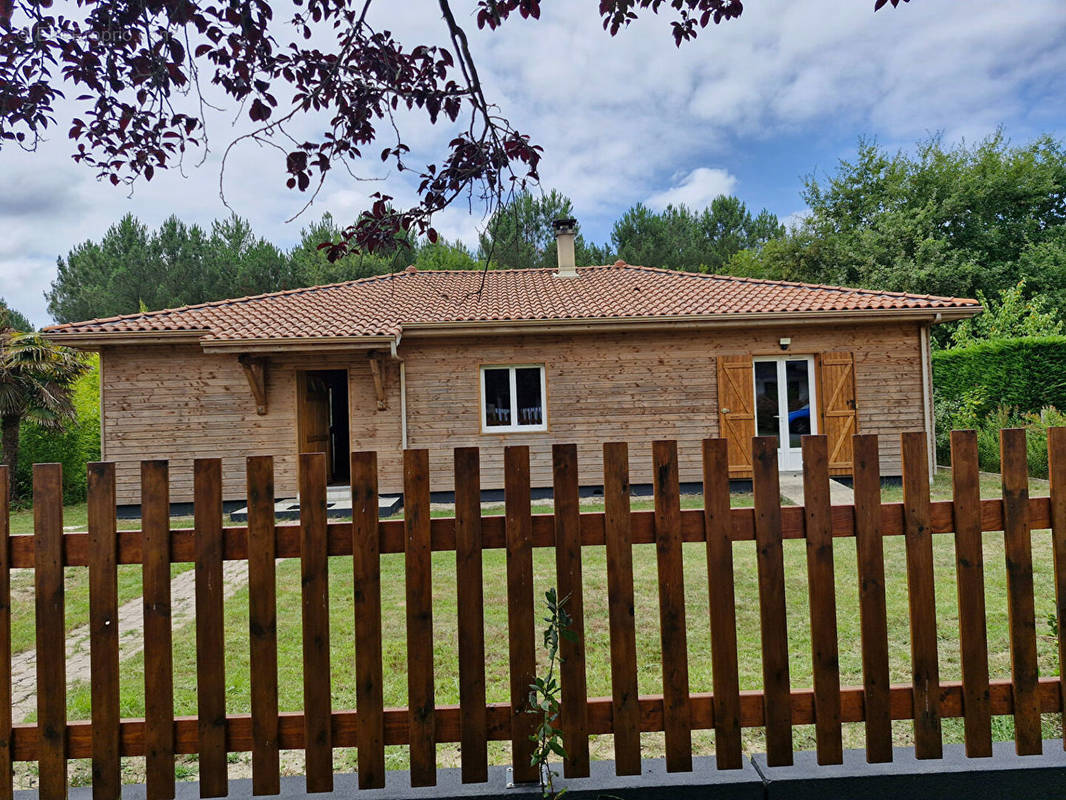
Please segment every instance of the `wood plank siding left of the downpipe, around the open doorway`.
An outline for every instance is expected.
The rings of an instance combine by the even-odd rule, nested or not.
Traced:
[[[273,455],[277,497],[296,495],[296,371],[348,369],[353,449],[381,450],[389,484],[400,486],[399,366],[386,362],[388,410],[377,411],[367,351],[277,353],[266,369],[268,413],[256,414],[248,382],[232,353],[205,353],[197,345],[106,348],[100,353],[102,458],[115,461],[117,501],[136,503],[140,461],[171,461],[171,499],[192,500],[192,463],[221,458],[223,497],[245,496],[248,455]],[[154,455],[155,454],[155,455]]]

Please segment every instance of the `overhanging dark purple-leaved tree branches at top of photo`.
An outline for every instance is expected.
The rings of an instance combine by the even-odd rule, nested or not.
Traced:
[[[895,5],[899,0],[891,0]],[[886,0],[874,0],[874,11]],[[419,175],[409,209],[378,197],[328,254],[373,253],[401,233],[436,239],[433,214],[457,198],[499,210],[511,188],[535,181],[540,148],[486,97],[451,0],[438,0],[447,47],[404,43],[368,16],[405,14],[403,3],[307,0],[275,14],[270,0],[37,0],[0,2],[0,146],[33,149],[55,124],[55,103],[74,98],[68,129],[76,161],[114,185],[180,166],[206,147],[210,84],[240,107],[252,130],[230,143],[278,151],[286,186],[317,193],[337,167],[364,157]],[[495,30],[514,16],[538,19],[540,0],[473,0],[459,18]],[[58,7],[56,7],[58,6]],[[472,14],[471,14],[472,12]],[[680,46],[712,21],[740,17],[741,0],[601,0],[603,28],[616,35],[634,19],[667,15]],[[386,17],[387,20],[387,17]],[[123,35],[116,35],[120,31]],[[284,43],[284,44],[282,44]],[[192,95],[182,102],[183,95]],[[280,98],[280,99],[279,99]],[[404,109],[446,122],[455,134],[433,163],[410,166]],[[386,146],[379,149],[378,129]],[[225,182],[223,181],[223,186]]]

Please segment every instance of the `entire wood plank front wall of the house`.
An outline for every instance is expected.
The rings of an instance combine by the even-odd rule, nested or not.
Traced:
[[[482,485],[503,486],[503,448],[530,447],[534,486],[551,486],[553,443],[578,445],[582,484],[599,483],[601,443],[630,443],[630,481],[651,483],[651,443],[679,442],[682,482],[701,480],[699,442],[720,435],[716,356],[851,352],[858,428],[881,436],[883,475],[900,475],[899,434],[924,428],[917,323],[738,327],[484,338],[403,339],[407,447],[430,451],[431,489],[453,489],[453,448],[482,448]],[[544,364],[548,430],[481,432],[482,365]],[[192,461],[223,460],[225,499],[244,497],[244,459],[273,455],[278,497],[296,492],[296,370],[348,369],[353,450],[379,452],[383,493],[402,491],[399,362],[385,359],[377,395],[366,351],[270,355],[268,413],[256,414],[232,353],[198,346],[123,346],[101,352],[103,458],[117,462],[119,503],[139,500],[140,461],[172,462],[175,502],[192,499]],[[820,431],[821,432],[821,431]],[[184,476],[190,476],[188,479]]]

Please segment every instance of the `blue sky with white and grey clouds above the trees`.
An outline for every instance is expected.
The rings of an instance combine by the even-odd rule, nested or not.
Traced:
[[[473,3],[453,5],[466,13]],[[831,172],[860,135],[891,148],[936,132],[973,141],[1000,126],[1016,142],[1041,132],[1066,138],[1062,0],[914,0],[876,14],[872,0],[745,5],[740,20],[680,49],[661,18],[610,37],[594,0],[545,0],[539,22],[515,20],[496,32],[465,18],[489,97],[544,145],[545,188],[574,199],[596,241],[637,202],[700,206],[724,191],[781,218],[802,213],[803,176]],[[434,0],[376,9],[375,22],[408,43],[442,35]],[[164,173],[130,195],[70,161],[64,131],[74,109],[59,112],[38,153],[0,151],[0,295],[37,324],[49,321],[43,292],[56,256],[98,239],[123,213],[152,226],[171,213],[203,224],[228,213],[220,157],[241,132],[232,108],[213,116],[204,165],[191,158],[185,176]],[[408,122],[414,155],[439,156],[452,131]],[[273,154],[247,146],[227,166],[226,197],[282,246],[325,211],[352,219],[370,192],[413,199],[413,188],[382,164],[360,169],[371,182],[337,171],[316,205],[286,223],[304,198],[284,188]],[[437,223],[447,237],[473,242],[484,220],[464,206]]]

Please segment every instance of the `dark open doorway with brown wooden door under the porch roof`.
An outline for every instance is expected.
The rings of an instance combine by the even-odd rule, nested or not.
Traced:
[[[326,454],[326,479],[346,483],[350,476],[348,370],[316,369],[296,373],[296,428],[301,452]]]

